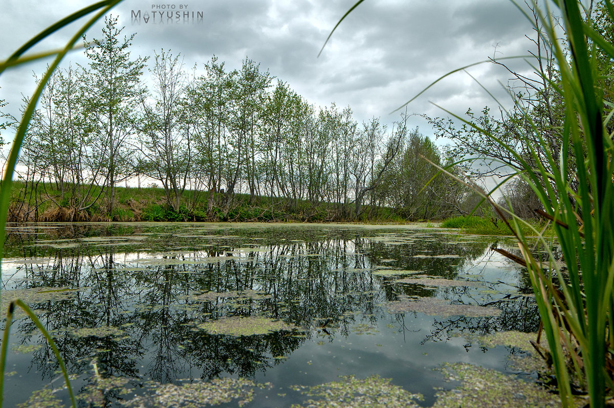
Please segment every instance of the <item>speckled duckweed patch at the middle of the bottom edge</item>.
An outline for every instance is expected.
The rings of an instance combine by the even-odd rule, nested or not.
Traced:
[[[295,385],[292,388],[301,394],[323,399],[309,399],[303,405],[292,405],[292,408],[325,408],[325,407],[418,407],[415,401],[420,401],[422,396],[412,394],[397,385],[392,385],[392,379],[383,379],[379,375],[371,375],[366,379],[359,380],[354,375],[340,376],[340,381],[305,387]]]

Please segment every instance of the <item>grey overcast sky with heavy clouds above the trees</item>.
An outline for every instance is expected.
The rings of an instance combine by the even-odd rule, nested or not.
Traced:
[[[263,70],[289,83],[316,106],[351,106],[354,117],[369,120],[390,115],[429,83],[452,69],[488,57],[526,55],[529,21],[509,0],[368,0],[357,7],[333,34],[322,55],[317,53],[336,21],[355,0],[125,0],[112,11],[125,33],[137,33],[132,54],[153,50],[181,53],[186,67],[200,68],[213,54],[230,69],[249,57]],[[0,58],[70,12],[90,1],[4,0],[0,13]],[[190,13],[185,20],[160,19],[160,11]],[[140,18],[133,18],[139,15]],[[155,13],[153,13],[155,12]],[[200,20],[199,13],[203,16]],[[100,33],[101,25],[89,32]],[[71,26],[43,44],[61,47],[76,30]],[[68,60],[87,63],[79,52]],[[526,62],[513,62],[526,67]],[[32,73],[45,63],[33,63],[0,77],[0,98],[16,113],[21,93],[33,90]],[[66,64],[64,64],[66,66]],[[495,94],[510,77],[494,64],[468,70]],[[505,96],[503,96],[505,100]],[[409,113],[443,115],[431,102],[462,114],[467,107],[492,104],[488,94],[467,74],[459,72],[412,102]],[[412,126],[432,134],[426,121]]]

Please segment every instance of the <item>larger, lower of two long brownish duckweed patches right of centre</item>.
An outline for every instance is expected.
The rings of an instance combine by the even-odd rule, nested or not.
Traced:
[[[445,299],[437,298],[410,298],[405,296],[398,301],[384,304],[391,313],[420,312],[430,316],[467,316],[487,317],[498,316],[501,310],[490,306],[476,306],[471,304],[450,304]]]

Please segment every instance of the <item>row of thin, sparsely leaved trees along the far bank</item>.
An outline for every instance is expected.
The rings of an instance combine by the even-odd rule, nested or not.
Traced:
[[[165,50],[131,58],[134,34],[116,25],[107,18],[99,39],[84,39],[87,66],[56,71],[47,86],[21,148],[12,220],[40,220],[41,205],[118,218],[126,180],[155,180],[163,202],[150,204],[211,220],[263,199],[287,214],[326,203],[327,220],[471,209],[467,188],[435,177],[424,159],[445,159],[406,115],[390,129],[358,123],[350,107],[315,107],[248,58],[229,70],[212,56],[201,75]]]

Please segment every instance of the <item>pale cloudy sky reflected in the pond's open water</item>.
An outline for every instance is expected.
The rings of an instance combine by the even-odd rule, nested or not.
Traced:
[[[236,276],[247,271],[247,265],[249,264],[249,268],[252,268],[250,270],[256,271],[254,275],[255,280],[249,287],[251,289],[264,291],[265,288],[271,290],[271,287],[274,287],[275,290],[290,291],[290,289],[295,290],[295,288],[308,288],[309,290],[314,290],[315,288],[316,290],[321,290],[319,293],[323,296],[329,297],[326,301],[330,302],[330,305],[327,304],[326,306],[334,306],[332,310],[336,310],[336,305],[333,302],[346,302],[348,307],[356,313],[349,314],[346,317],[338,317],[338,320],[330,323],[327,326],[330,336],[319,329],[319,324],[322,324],[322,320],[325,318],[331,317],[336,319],[337,317],[315,315],[311,326],[308,328],[305,341],[298,348],[287,350],[286,358],[279,361],[273,360],[273,355],[270,354],[269,350],[266,351],[265,358],[268,359],[267,363],[270,364],[270,367],[263,369],[263,371],[256,371],[255,380],[258,382],[271,382],[274,388],[270,391],[257,391],[257,394],[262,398],[252,402],[251,406],[255,407],[289,406],[294,402],[302,402],[304,398],[287,387],[295,384],[317,385],[319,383],[336,381],[338,380],[338,375],[349,374],[354,374],[358,378],[365,378],[373,374],[381,375],[384,378],[392,378],[392,384],[399,385],[412,393],[424,394],[426,398],[425,403],[430,405],[435,394],[433,387],[449,387],[442,382],[439,372],[433,371],[433,368],[437,368],[442,363],[467,362],[498,370],[505,368],[507,356],[505,348],[499,347],[484,353],[475,344],[473,347],[468,347],[469,341],[466,337],[451,336],[455,331],[463,332],[467,325],[480,325],[480,330],[486,331],[497,329],[499,323],[496,318],[492,318],[492,320],[488,320],[489,318],[465,318],[458,323],[460,327],[450,325],[449,331],[443,330],[441,333],[436,333],[438,328],[448,324],[446,318],[430,317],[414,312],[389,314],[383,307],[383,304],[390,300],[391,297],[394,299],[400,293],[411,294],[412,291],[416,291],[416,293],[434,293],[438,298],[449,299],[451,302],[483,304],[485,302],[497,301],[502,298],[505,291],[515,290],[514,287],[521,286],[522,277],[518,269],[513,268],[502,255],[491,252],[488,249],[488,245],[484,243],[485,241],[478,243],[468,242],[462,237],[451,238],[449,234],[437,234],[431,231],[420,231],[419,233],[413,231],[394,231],[392,233],[390,231],[362,231],[362,236],[360,237],[328,239],[326,234],[338,232],[335,230],[335,227],[329,225],[327,229],[330,229],[330,231],[318,231],[315,235],[316,238],[312,237],[311,241],[306,242],[300,234],[293,233],[292,228],[283,228],[287,228],[289,237],[284,239],[283,243],[278,244],[272,244],[272,241],[249,241],[250,237],[239,237],[240,239],[238,239],[238,243],[235,245],[233,244],[235,241],[232,241],[230,236],[233,233],[237,233],[237,231],[226,229],[223,231],[223,233],[229,234],[226,237],[226,241],[224,241],[223,245],[216,247],[215,250],[198,247],[192,250],[175,249],[166,252],[128,250],[112,253],[114,267],[117,271],[122,269],[130,271],[130,268],[139,269],[139,271],[136,271],[136,275],[139,277],[133,277],[130,272],[123,274],[126,280],[125,283],[122,283],[122,287],[117,289],[117,296],[120,298],[119,304],[121,305],[118,307],[123,307],[125,312],[131,314],[128,317],[130,321],[134,321],[136,325],[144,325],[145,323],[141,323],[139,319],[142,318],[142,314],[147,314],[147,311],[143,312],[138,307],[133,308],[132,306],[138,305],[130,305],[130,302],[148,302],[149,293],[152,294],[152,299],[155,298],[155,291],[161,288],[161,286],[158,287],[156,285],[163,283],[158,277],[161,276],[161,271],[165,271],[164,263],[167,261],[181,263],[180,260],[185,260],[185,268],[194,268],[194,271],[192,271],[194,273],[198,273],[200,265],[209,265],[208,261],[214,261],[214,264],[217,264],[220,268],[225,264],[228,266],[232,264],[236,267],[236,269],[233,269],[236,272]],[[258,234],[261,232],[264,233],[266,231],[265,229],[253,231],[251,237],[258,237]],[[193,237],[200,244],[209,245],[211,243],[208,238],[205,238],[202,234],[199,235],[198,231],[194,231],[192,227],[179,228],[177,236]],[[212,235],[211,237],[214,236]],[[79,241],[79,239],[76,239],[76,241]],[[248,248],[246,242],[251,242],[254,248]],[[445,242],[451,242],[451,244],[442,244]],[[92,245],[92,248],[95,248],[95,244],[90,245]],[[142,242],[139,241],[138,245],[146,248],[149,243],[147,240],[144,240]],[[486,247],[485,250],[482,249],[484,247]],[[437,255],[430,248],[443,248],[445,253],[448,254],[456,248],[463,255],[460,258],[429,258],[429,255]],[[71,256],[69,254],[73,249],[63,250],[63,255],[61,257],[58,256],[58,258],[48,256],[42,260],[35,259],[36,264],[28,267],[33,267],[37,271],[45,270],[51,272],[55,266],[60,264],[60,260],[64,266],[70,263]],[[126,248],[120,245],[115,249],[122,251],[122,249],[125,250]],[[477,255],[471,255],[471,250]],[[109,247],[104,247],[103,251],[106,251],[108,255]],[[414,255],[421,255],[421,257],[414,257]],[[163,256],[166,256],[166,261],[163,259]],[[176,259],[169,260],[168,257]],[[225,258],[231,261],[227,261]],[[82,256],[81,261],[86,265],[85,269],[90,269],[90,271],[94,269],[101,269],[102,271],[105,268],[104,256],[101,255]],[[6,287],[22,285],[25,278],[24,266],[27,264],[28,260],[23,258],[13,258],[4,261],[2,264],[2,280],[4,285]],[[456,280],[472,280],[480,284],[476,287],[443,287],[426,290],[420,285],[394,283],[397,277],[371,276],[369,271],[382,268],[388,264],[393,265],[391,268],[394,269],[403,269],[404,266],[413,264],[424,267],[428,266],[432,269],[429,269],[427,272],[430,271],[432,274],[438,276],[449,275]],[[290,268],[290,265],[295,269]],[[357,265],[362,265],[362,268],[354,268]],[[174,267],[176,266],[175,264]],[[305,280],[305,272],[301,272],[300,269],[296,268],[311,266],[314,268],[325,268],[325,270],[318,272],[320,275],[316,279],[317,282],[314,280],[305,284],[297,283],[298,280]],[[344,270],[346,270],[346,275],[344,275],[343,285],[339,285],[338,288],[326,286],[330,283],[341,282],[341,279],[337,280],[336,276],[337,274],[343,274]],[[347,272],[349,270],[352,270],[352,272]],[[155,278],[151,282],[147,281],[149,279],[148,271],[153,272],[150,277]],[[269,282],[263,277],[263,271],[273,271],[280,274],[281,277],[268,277],[266,279],[272,279]],[[87,271],[83,271],[82,275],[85,276],[86,273]],[[118,278],[120,276],[122,274],[117,275]],[[233,276],[235,275],[228,273],[226,278],[228,281],[222,283],[222,290],[230,290],[228,289],[230,284],[239,284],[238,282],[240,281],[233,280]],[[300,279],[297,279],[299,276]],[[293,283],[289,283],[292,280],[290,279],[291,277]],[[85,280],[84,277],[80,279]],[[187,282],[190,278],[186,275],[185,279]],[[218,278],[216,277],[216,279]],[[284,279],[287,279],[288,282],[285,282]],[[352,280],[361,279],[361,282],[371,282],[370,284],[373,285],[372,288],[375,293],[371,294],[371,298],[368,298],[365,294],[360,294],[362,297],[357,296],[357,294],[349,293],[344,288],[346,281],[356,282]],[[499,283],[499,281],[505,283]],[[94,280],[88,278],[88,282],[94,282]],[[130,285],[136,285],[137,283],[138,285],[151,286],[139,288],[138,297],[130,300],[126,299],[128,298],[126,296],[126,298],[122,299],[124,293],[130,293],[133,289],[130,288]],[[320,288],[319,285],[322,285],[322,287]],[[357,287],[360,287],[360,285]],[[233,290],[237,289],[239,288],[233,288]],[[188,291],[192,290],[193,288],[188,287]],[[196,291],[198,291],[198,288],[196,288]],[[503,291],[503,293],[500,291]],[[80,296],[96,301],[98,294],[95,293],[94,289],[91,289],[82,292]],[[172,296],[176,296],[176,294],[172,294]],[[300,299],[294,304],[295,306],[305,307],[306,309],[317,306],[313,304],[313,299],[309,299],[307,294],[301,293],[299,296]],[[355,299],[350,299],[352,297]],[[373,302],[373,310],[369,312],[372,313],[371,315],[366,314],[365,309],[363,309],[363,307],[366,307],[364,304],[356,304],[356,302],[364,302],[365,299],[371,299],[370,301]],[[308,300],[312,303],[309,303]],[[284,302],[286,301],[287,299],[284,299]],[[254,310],[266,312],[267,306],[264,306],[265,303],[258,304],[258,301],[256,301]],[[179,304],[185,305],[185,298],[181,298],[181,300],[171,299],[171,306],[173,306],[171,307],[171,312],[176,313],[171,318],[177,319],[186,310],[192,318],[197,316],[191,309],[181,309],[181,307],[177,306]],[[203,303],[198,304],[201,305]],[[95,304],[93,310],[98,306]],[[177,309],[174,309],[174,306],[177,306]],[[232,313],[229,311],[231,309],[224,309],[226,306],[219,307],[219,314]],[[135,312],[135,310],[138,310],[138,312]],[[95,313],[94,310],[93,314]],[[283,314],[284,312],[282,312],[282,318],[286,318]],[[305,312],[305,314],[311,316],[309,312]],[[46,318],[50,319],[52,317],[48,316]],[[200,318],[206,319],[208,317]],[[450,321],[454,320],[455,318],[450,319]],[[15,323],[15,328],[22,325],[23,322],[22,320]],[[156,321],[153,321],[152,324],[158,325],[158,323],[162,324]],[[367,328],[373,327],[367,330],[368,333],[360,334],[356,331],[360,327],[359,325],[366,325]],[[155,329],[157,330],[158,326],[155,326]],[[472,330],[468,330],[468,332],[472,332]],[[128,334],[134,337],[134,334],[130,332]],[[126,359],[134,358],[137,361],[138,371],[144,376],[149,375],[147,373],[157,358],[155,350],[157,350],[158,344],[155,343],[152,336],[150,333],[141,339],[144,348],[142,355],[132,355],[130,352],[126,355]],[[13,336],[12,342],[18,342],[20,341],[19,339],[20,337]],[[175,348],[176,346],[176,344],[172,345],[172,351],[174,354],[179,355],[179,349]],[[184,344],[182,344],[183,346]],[[181,361],[174,363],[178,367],[177,378],[200,378],[203,367],[199,364],[202,362],[193,361],[190,355],[183,356],[181,359]],[[41,374],[37,373],[34,369],[27,373],[21,372],[23,368],[33,364],[31,355],[13,353],[9,358],[8,371],[12,370],[10,368],[11,364],[16,364],[14,369],[18,371],[18,375],[8,377],[7,387],[10,388],[7,389],[16,390],[23,387],[25,390],[28,388],[27,393],[21,393],[22,399],[14,401],[16,403],[25,400],[29,392],[42,387],[42,384],[39,383]],[[23,377],[20,377],[20,375],[23,375]],[[233,374],[223,372],[222,375]],[[82,376],[80,378],[84,379],[85,377]],[[26,383],[24,383],[25,381]],[[287,396],[281,397],[278,395],[280,393],[287,394]]]

